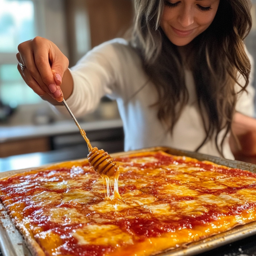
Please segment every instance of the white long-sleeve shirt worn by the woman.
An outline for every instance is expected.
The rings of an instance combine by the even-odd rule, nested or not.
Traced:
[[[126,151],[151,146],[194,151],[205,138],[192,73],[185,71],[189,100],[171,135],[167,126],[157,118],[157,106],[152,107],[158,100],[156,87],[143,70],[141,59],[124,39],[105,42],[88,52],[71,68],[71,75],[74,90],[67,104],[75,116],[94,111],[104,95],[117,100]],[[253,116],[252,84],[249,84],[247,91],[248,94],[244,92],[240,95],[236,109]],[[56,108],[67,113],[63,106]],[[220,135],[220,141],[222,138],[223,135]],[[214,138],[205,143],[199,152],[220,156]],[[228,138],[225,139],[223,153],[224,157],[233,159]]]

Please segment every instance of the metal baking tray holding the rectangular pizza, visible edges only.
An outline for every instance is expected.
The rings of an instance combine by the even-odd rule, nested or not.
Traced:
[[[130,153],[158,151],[158,150],[162,150],[164,152],[167,152],[176,156],[189,156],[192,158],[196,158],[200,161],[207,160],[219,165],[226,165],[231,168],[238,168],[238,169],[243,169],[243,170],[256,173],[256,165],[253,165],[253,164],[223,159],[215,156],[204,155],[197,152],[172,149],[169,147],[152,147],[152,148],[134,150],[129,152],[114,153],[114,154],[111,154],[111,156],[118,157],[118,156],[130,154]],[[68,162],[79,163],[79,161],[82,162],[84,161],[84,159],[78,159],[75,161],[68,161]],[[50,164],[50,165],[43,165],[35,168],[2,172],[0,173],[0,178],[4,178],[20,172],[26,172],[29,170],[47,168],[48,166],[50,167],[54,165],[55,164]],[[199,240],[198,242],[181,246],[174,250],[167,250],[165,252],[158,253],[155,256],[192,256],[192,255],[206,252],[208,250],[212,250],[219,246],[223,246],[227,243],[232,243],[237,240],[250,237],[254,234],[256,234],[256,221],[249,224],[234,227],[233,229],[228,230],[226,232],[219,233],[207,239]],[[19,230],[17,230],[16,227],[14,226],[13,222],[11,221],[10,217],[8,216],[2,204],[0,204],[0,248],[3,253],[3,256],[32,256],[26,246],[26,243],[22,235],[19,233]]]

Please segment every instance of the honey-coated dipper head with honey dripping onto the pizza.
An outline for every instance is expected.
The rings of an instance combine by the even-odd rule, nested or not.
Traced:
[[[112,157],[110,157],[110,155],[103,149],[99,150],[97,147],[93,148],[89,139],[86,136],[85,131],[81,129],[80,132],[88,145],[88,162],[90,163],[94,171],[97,172],[103,179],[104,189],[106,185],[105,197],[108,199],[121,198],[118,192],[119,166],[117,165],[116,161]],[[111,187],[111,181],[113,181],[114,185],[113,191]]]

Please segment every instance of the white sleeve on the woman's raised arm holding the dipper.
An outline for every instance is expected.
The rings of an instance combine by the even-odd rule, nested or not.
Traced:
[[[76,117],[93,112],[104,95],[115,98],[118,77],[122,73],[119,70],[118,45],[128,47],[124,39],[105,42],[88,52],[70,69],[74,88],[66,102]],[[54,108],[67,114],[64,106]]]

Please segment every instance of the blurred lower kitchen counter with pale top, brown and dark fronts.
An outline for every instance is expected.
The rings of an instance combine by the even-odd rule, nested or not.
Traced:
[[[123,151],[123,123],[120,118],[79,122],[92,146],[105,151]],[[79,149],[77,148],[79,146]],[[87,144],[73,120],[62,120],[46,125],[0,127],[0,158],[33,152],[64,150],[86,157]],[[83,151],[82,154],[79,151]],[[64,161],[64,159],[63,159]]]

